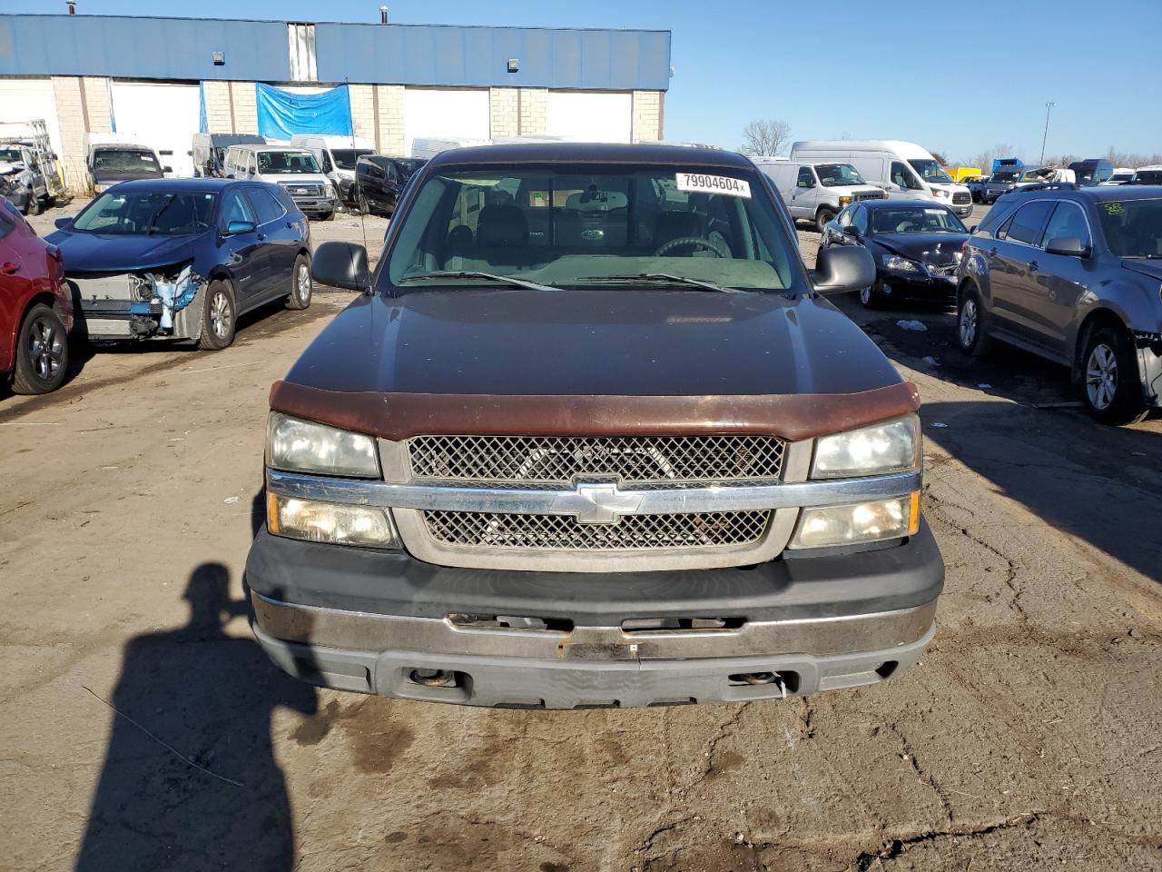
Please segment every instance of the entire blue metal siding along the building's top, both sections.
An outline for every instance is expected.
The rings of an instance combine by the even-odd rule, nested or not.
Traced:
[[[215,66],[213,52],[225,55]],[[669,31],[315,26],[321,83],[665,91]],[[518,58],[521,70],[507,71]],[[281,21],[0,15],[0,76],[287,81]]]

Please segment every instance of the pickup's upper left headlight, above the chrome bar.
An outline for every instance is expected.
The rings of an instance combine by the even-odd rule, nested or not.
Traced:
[[[380,478],[375,439],[272,412],[266,426],[266,463],[277,470],[323,476]]]

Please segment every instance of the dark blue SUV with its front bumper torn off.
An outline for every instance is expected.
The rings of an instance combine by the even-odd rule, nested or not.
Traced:
[[[229,179],[125,181],[59,219],[76,331],[96,341],[165,337],[206,350],[238,316],[282,299],[310,305],[310,231],[277,185]]]

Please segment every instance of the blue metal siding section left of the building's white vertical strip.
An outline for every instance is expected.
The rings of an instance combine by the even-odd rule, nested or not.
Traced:
[[[225,53],[215,66],[213,52]],[[279,21],[0,15],[0,76],[120,79],[290,77],[287,26]]]

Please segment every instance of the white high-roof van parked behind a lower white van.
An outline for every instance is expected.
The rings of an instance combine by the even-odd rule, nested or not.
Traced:
[[[933,200],[960,217],[973,214],[973,195],[957,185],[937,159],[912,142],[899,140],[811,140],[791,145],[791,160],[851,164],[890,199]]]

